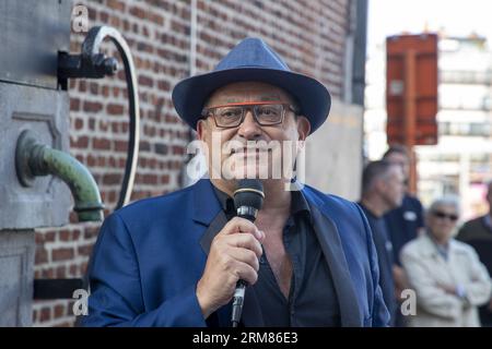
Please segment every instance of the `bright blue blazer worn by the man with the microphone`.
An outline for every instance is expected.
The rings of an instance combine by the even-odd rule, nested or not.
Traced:
[[[342,326],[386,326],[372,232],[361,208],[304,186],[314,230],[329,265]],[[85,326],[230,326],[231,304],[203,320],[196,297],[210,244],[226,222],[210,180],[139,201],[108,216],[89,268]],[[242,317],[260,326],[248,288]]]

